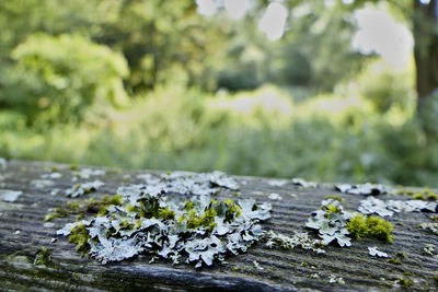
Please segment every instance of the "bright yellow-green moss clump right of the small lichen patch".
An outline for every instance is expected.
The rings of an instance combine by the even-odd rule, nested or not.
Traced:
[[[384,242],[392,242],[392,224],[380,217],[365,217],[357,214],[347,222],[348,232],[353,237],[376,237]]]

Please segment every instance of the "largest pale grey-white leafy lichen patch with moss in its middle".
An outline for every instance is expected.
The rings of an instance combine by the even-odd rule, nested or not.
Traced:
[[[211,195],[237,182],[223,173],[142,175],[147,184],[118,188],[122,203],[104,213],[67,224],[59,235],[76,235],[81,226],[88,254],[106,264],[147,254],[194,264],[222,261],[228,253],[245,252],[264,232],[260,221],[270,217],[270,205],[254,200],[215,199]]]

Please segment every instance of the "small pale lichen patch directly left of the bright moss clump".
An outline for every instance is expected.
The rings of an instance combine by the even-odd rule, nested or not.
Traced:
[[[321,202],[321,209],[309,218],[306,226],[318,230],[322,243],[327,245],[337,242],[342,247],[351,246],[351,240],[347,229],[347,221],[351,218],[349,212],[344,211],[343,206],[336,199],[326,199]]]

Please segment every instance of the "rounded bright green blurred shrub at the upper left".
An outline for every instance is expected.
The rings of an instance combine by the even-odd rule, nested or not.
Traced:
[[[22,110],[27,124],[79,122],[89,106],[120,105],[125,59],[79,35],[35,34],[12,52],[13,84],[0,101]]]

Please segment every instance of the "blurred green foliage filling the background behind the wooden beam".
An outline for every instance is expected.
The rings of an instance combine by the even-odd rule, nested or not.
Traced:
[[[268,43],[257,10],[2,0],[0,156],[438,186],[438,96],[424,130],[413,66],[354,51],[351,15],[311,8]]]

